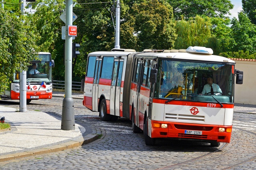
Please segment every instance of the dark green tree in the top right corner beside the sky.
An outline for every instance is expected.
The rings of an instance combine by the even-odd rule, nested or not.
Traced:
[[[242,0],[244,13],[253,24],[256,24],[256,1],[255,0]]]

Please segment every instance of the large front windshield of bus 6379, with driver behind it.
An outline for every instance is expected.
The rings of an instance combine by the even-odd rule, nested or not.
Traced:
[[[160,59],[154,97],[233,103],[234,65]]]

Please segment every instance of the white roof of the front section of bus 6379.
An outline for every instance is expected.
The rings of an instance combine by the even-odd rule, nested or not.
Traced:
[[[136,56],[141,57],[159,57],[159,58],[172,58],[172,59],[185,59],[195,61],[207,61],[207,62],[224,62],[235,63],[233,60],[218,55],[198,54],[198,53],[140,53]]]

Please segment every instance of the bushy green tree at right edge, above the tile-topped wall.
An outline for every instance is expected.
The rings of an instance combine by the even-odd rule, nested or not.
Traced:
[[[233,18],[231,23],[230,51],[256,53],[256,25],[243,12],[238,13],[238,20]]]

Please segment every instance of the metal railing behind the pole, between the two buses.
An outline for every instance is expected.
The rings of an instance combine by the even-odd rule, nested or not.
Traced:
[[[65,90],[65,81],[60,80],[52,80],[52,87],[56,89]],[[81,82],[72,82],[72,90],[80,90],[80,92],[84,91],[84,79]]]

